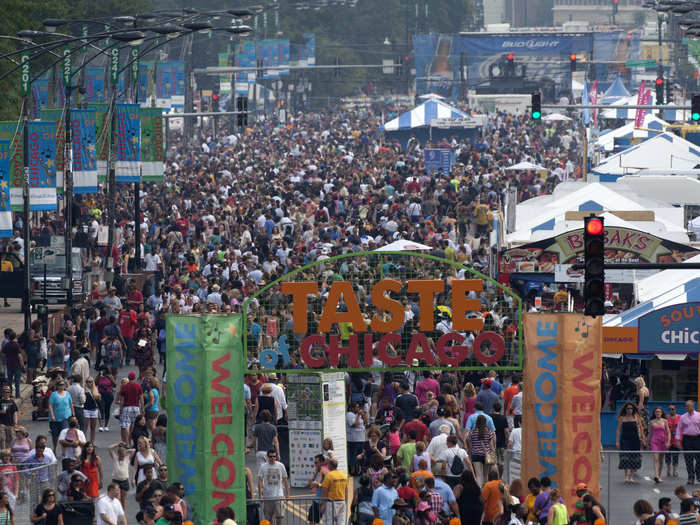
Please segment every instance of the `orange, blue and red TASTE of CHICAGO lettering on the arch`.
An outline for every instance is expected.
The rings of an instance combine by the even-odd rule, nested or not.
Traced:
[[[418,331],[410,334],[406,351],[399,352],[396,349],[402,348],[399,331],[404,325],[405,311],[404,305],[390,293],[397,294],[404,286],[408,294],[418,299],[419,319]],[[425,366],[460,366],[472,355],[480,363],[495,364],[506,353],[505,340],[497,332],[483,331],[481,301],[467,297],[469,292],[482,289],[480,279],[452,280],[451,324],[449,330],[436,332],[439,327],[435,325],[434,298],[444,292],[444,281],[409,280],[405,285],[393,279],[378,281],[370,294],[376,313],[369,323],[363,318],[352,284],[335,281],[328,290],[316,333],[308,333],[308,297],[318,295],[318,283],[284,282],[280,287],[282,294],[291,296],[293,331],[304,336],[299,353],[303,364],[309,368],[338,367],[341,359],[348,368],[369,368],[374,358],[389,367],[411,366],[414,359]],[[345,338],[338,335],[341,326],[351,329]],[[332,333],[334,331],[336,333]],[[471,344],[467,344],[468,332],[477,334]],[[429,337],[437,338],[434,351]],[[284,341],[283,338],[280,337],[280,351],[288,350],[286,338]],[[261,356],[261,364],[274,368],[278,363],[276,358],[269,360]]]

